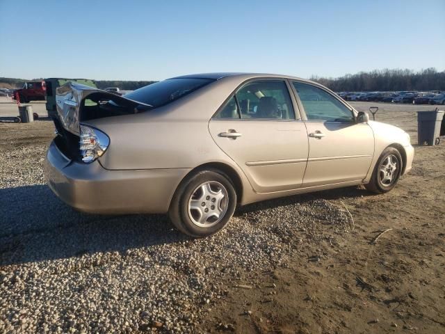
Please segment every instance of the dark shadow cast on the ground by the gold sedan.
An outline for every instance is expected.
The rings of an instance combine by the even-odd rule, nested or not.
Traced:
[[[320,191],[246,205],[236,215],[318,198],[369,195],[357,187]],[[84,254],[124,254],[132,248],[191,239],[177,232],[168,216],[162,214],[104,216],[76,212],[44,184],[0,189],[0,208],[0,267]]]

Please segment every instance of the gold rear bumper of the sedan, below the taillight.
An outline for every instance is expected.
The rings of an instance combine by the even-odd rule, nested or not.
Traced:
[[[52,191],[67,205],[95,214],[168,212],[177,185],[188,168],[106,170],[98,161],[67,159],[53,143],[44,173]]]

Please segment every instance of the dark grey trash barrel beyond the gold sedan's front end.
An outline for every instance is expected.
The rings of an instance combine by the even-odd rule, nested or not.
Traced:
[[[419,145],[436,145],[439,143],[440,126],[445,111],[418,111],[417,137]]]

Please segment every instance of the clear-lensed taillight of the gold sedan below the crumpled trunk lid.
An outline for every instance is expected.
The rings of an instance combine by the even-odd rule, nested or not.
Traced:
[[[110,145],[110,138],[98,129],[86,125],[80,125],[80,127],[79,151],[81,159],[86,164],[90,164],[104,154]]]

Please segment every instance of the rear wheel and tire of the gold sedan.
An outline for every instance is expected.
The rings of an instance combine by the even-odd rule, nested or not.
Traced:
[[[200,238],[222,230],[235,208],[236,191],[232,181],[220,170],[206,168],[179,184],[168,214],[177,230]],[[213,215],[209,214],[212,212]]]

